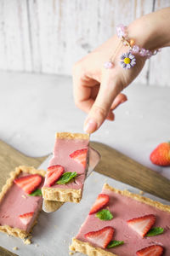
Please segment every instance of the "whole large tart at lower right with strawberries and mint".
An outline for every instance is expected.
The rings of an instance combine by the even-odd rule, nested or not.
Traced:
[[[70,249],[90,256],[168,256],[169,241],[170,206],[105,184]]]

